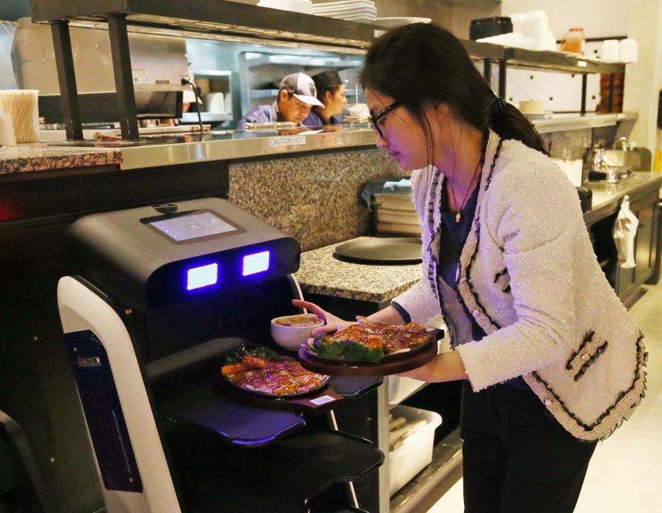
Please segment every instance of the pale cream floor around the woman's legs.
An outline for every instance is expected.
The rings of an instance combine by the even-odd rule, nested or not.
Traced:
[[[648,390],[630,420],[596,447],[575,513],[662,511],[662,281],[648,287],[630,313],[649,328]],[[463,510],[460,479],[428,513]]]

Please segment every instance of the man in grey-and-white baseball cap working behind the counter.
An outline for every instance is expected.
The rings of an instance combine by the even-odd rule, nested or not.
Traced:
[[[317,99],[317,88],[314,81],[305,73],[288,74],[281,80],[278,99],[271,105],[258,105],[248,111],[237,123],[237,128],[245,128],[246,123],[271,123],[273,121],[290,121],[301,124],[313,105],[323,108],[324,104]]]

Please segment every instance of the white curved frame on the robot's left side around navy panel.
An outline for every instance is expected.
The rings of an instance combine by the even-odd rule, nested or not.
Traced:
[[[181,513],[136,354],[124,323],[97,294],[70,276],[60,279],[57,302],[64,332],[90,330],[108,353],[143,483],[142,493],[118,492],[106,490],[100,479],[107,512]]]

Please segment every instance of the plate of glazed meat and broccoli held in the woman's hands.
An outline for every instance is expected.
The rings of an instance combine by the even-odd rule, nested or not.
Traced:
[[[395,374],[434,358],[442,333],[417,323],[357,317],[356,324],[343,330],[308,339],[299,349],[299,359],[305,368],[327,374]]]

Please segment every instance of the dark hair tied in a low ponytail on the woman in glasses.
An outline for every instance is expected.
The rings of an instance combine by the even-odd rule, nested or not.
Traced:
[[[432,137],[425,108],[450,105],[463,121],[502,139],[516,139],[545,154],[535,127],[514,105],[497,99],[462,43],[432,23],[394,28],[376,39],[365,55],[360,77],[370,88],[400,101],[416,119],[432,154]]]

